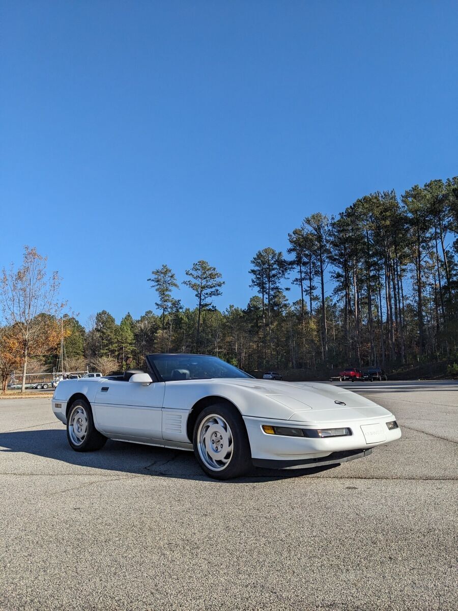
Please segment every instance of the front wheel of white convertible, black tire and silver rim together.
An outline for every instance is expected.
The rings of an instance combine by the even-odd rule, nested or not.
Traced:
[[[225,403],[200,412],[194,426],[194,454],[216,480],[241,477],[251,466],[250,442],[240,413]]]

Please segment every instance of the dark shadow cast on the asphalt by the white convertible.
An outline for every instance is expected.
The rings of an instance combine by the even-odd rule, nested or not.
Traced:
[[[111,441],[110,439],[97,452],[75,452],[68,445],[65,431],[56,429],[0,433],[0,455],[14,452],[42,456],[72,466],[105,469],[111,472],[212,481],[211,478],[203,474],[191,452]],[[250,467],[245,477],[227,481],[228,483],[242,483],[283,480],[316,474],[335,466],[338,465],[293,470]],[[1,469],[1,471],[4,472],[4,469]],[[14,471],[9,471],[9,473],[14,474]],[[18,474],[22,473],[23,470],[18,471]],[[56,475],[60,473],[62,473],[62,470],[56,469]],[[31,475],[34,474],[34,472],[31,473]],[[39,471],[37,471],[37,474],[39,474]],[[63,474],[65,474],[65,471]]]

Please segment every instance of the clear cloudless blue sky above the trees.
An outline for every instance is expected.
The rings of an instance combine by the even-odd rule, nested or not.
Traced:
[[[200,258],[244,306],[307,214],[458,173],[456,1],[5,0],[1,30],[0,265],[36,246],[82,323]]]

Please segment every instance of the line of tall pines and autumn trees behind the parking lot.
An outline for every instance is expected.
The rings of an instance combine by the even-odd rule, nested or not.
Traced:
[[[244,307],[217,309],[224,279],[203,260],[184,272],[181,285],[195,295],[195,307],[184,307],[176,274],[163,263],[148,279],[154,311],[137,320],[127,313],[117,324],[103,310],[85,327],[62,315],[57,273],[46,277],[46,259],[26,249],[21,268],[3,271],[0,373],[5,378],[12,364],[25,371],[37,355],[51,365],[59,329],[74,368],[90,364],[102,373],[141,367],[145,354],[164,351],[215,354],[247,371],[452,361],[457,238],[458,177],[415,185],[401,197],[374,192],[336,218],[305,216],[285,253],[256,252],[249,270],[255,294]]]

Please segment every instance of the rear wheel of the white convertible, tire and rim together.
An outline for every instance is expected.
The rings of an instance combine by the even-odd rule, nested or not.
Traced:
[[[106,444],[106,437],[96,430],[89,403],[77,399],[67,418],[67,439],[75,452],[93,452]]]

